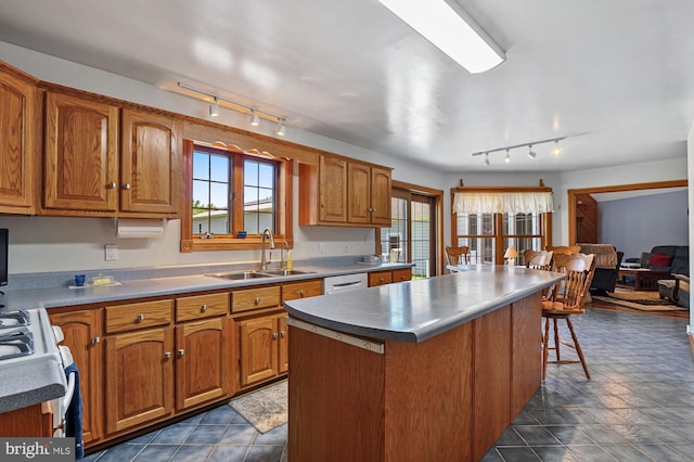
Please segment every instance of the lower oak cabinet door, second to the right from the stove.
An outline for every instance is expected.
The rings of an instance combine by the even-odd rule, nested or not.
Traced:
[[[170,415],[174,411],[174,330],[106,337],[108,433]]]

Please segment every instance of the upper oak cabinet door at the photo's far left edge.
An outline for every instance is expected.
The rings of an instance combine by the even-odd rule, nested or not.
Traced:
[[[0,67],[0,211],[35,213],[37,87]]]

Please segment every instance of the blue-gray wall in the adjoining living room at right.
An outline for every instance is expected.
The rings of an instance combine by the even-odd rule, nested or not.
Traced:
[[[599,242],[614,244],[625,258],[655,245],[686,245],[687,207],[687,191],[601,202]]]

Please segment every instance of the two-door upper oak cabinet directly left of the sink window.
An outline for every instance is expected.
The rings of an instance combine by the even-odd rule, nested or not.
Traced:
[[[180,133],[180,120],[155,112],[48,91],[43,213],[178,218]]]

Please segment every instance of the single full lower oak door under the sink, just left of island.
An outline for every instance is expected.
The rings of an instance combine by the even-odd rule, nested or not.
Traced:
[[[264,316],[239,323],[241,386],[278,374],[278,320]]]

